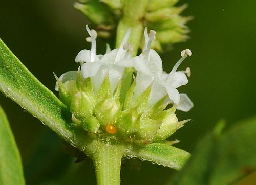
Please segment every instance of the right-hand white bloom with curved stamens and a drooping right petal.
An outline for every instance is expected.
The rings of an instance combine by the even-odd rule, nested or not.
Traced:
[[[182,61],[189,55],[191,50],[183,50],[182,58],[175,64],[169,74],[163,73],[162,60],[155,50],[150,49],[151,42],[155,39],[155,32],[150,31],[147,35],[145,29],[145,49],[143,53],[135,58],[134,67],[138,71],[136,76],[136,87],[134,97],[137,98],[149,85],[152,84],[151,94],[148,105],[152,106],[166,94],[169,99],[177,105],[177,109],[188,111],[193,107],[193,103],[185,94],[179,94],[177,90],[181,85],[187,84],[188,80],[185,73],[190,75],[190,71],[178,71],[177,68]]]

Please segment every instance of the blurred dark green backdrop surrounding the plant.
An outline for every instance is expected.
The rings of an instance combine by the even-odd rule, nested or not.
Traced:
[[[53,71],[60,75],[76,70],[76,54],[89,49],[84,29],[86,19],[73,8],[73,0],[0,0],[0,37],[27,68],[54,91]],[[256,1],[180,1],[189,7],[183,15],[194,20],[187,42],[162,54],[169,72],[180,51],[191,49],[180,69],[189,66],[188,85],[179,88],[193,101],[188,113],[177,111],[180,120],[192,121],[171,139],[177,147],[193,151],[195,144],[224,118],[234,122],[256,115]],[[106,40],[98,39],[98,53]],[[112,47],[114,42],[111,42]],[[75,158],[63,151],[63,144],[48,127],[0,94],[22,155],[27,184],[95,184],[92,162],[74,164]],[[138,171],[139,170],[139,171]],[[175,171],[139,160],[124,160],[122,184],[163,184]]]

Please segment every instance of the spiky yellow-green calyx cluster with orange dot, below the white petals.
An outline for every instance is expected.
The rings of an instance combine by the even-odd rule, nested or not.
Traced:
[[[134,98],[132,68],[126,68],[114,92],[108,75],[95,91],[91,78],[84,79],[79,70],[71,80],[57,79],[57,83],[60,100],[71,111],[73,127],[91,138],[146,145],[165,140],[187,122],[178,121],[175,107],[166,109],[167,97],[149,107],[151,86]]]

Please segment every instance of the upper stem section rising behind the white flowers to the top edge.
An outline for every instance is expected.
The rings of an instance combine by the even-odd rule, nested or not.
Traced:
[[[116,48],[118,48],[129,28],[132,28],[129,42],[133,45],[132,55],[138,52],[141,36],[144,30],[143,17],[146,1],[124,0],[123,17],[117,26]]]

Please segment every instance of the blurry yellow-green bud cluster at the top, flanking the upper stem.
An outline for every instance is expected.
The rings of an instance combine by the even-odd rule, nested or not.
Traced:
[[[175,6],[178,0],[143,0],[137,2],[140,4],[137,7],[135,2],[134,7],[127,10],[125,6],[129,2],[131,0],[79,0],[74,7],[90,20],[100,37],[110,37],[125,13],[136,16],[133,11],[136,12],[138,6],[143,6],[141,17],[138,19],[143,26],[158,33],[152,43],[153,49],[161,51],[162,44],[181,42],[188,38],[189,29],[185,24],[191,20],[191,17],[180,15],[186,9],[186,4]],[[143,45],[144,40],[141,39],[141,49]]]

